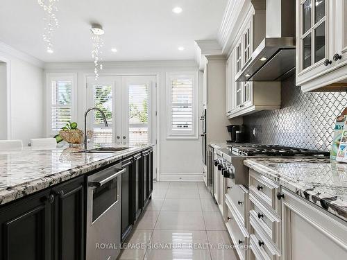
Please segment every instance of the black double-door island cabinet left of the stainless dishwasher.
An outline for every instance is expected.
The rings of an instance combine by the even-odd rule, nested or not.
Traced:
[[[84,259],[84,178],[0,209],[0,259]]]

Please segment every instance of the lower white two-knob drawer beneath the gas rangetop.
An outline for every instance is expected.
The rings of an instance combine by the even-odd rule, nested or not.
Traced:
[[[235,245],[239,258],[246,259],[246,248],[248,245],[248,232],[244,228],[243,223],[237,218],[235,211],[226,207],[226,227],[232,239],[232,243]]]

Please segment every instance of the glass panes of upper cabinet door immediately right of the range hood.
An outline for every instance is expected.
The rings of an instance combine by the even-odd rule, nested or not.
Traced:
[[[301,1],[301,70],[321,62],[323,64],[326,48],[326,1]]]

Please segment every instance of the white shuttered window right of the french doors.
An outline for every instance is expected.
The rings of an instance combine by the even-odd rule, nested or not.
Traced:
[[[172,73],[168,78],[168,138],[197,138],[196,77]]]

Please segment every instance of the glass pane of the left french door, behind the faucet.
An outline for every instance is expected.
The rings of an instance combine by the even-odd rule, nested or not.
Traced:
[[[99,111],[94,112],[93,131],[87,132],[94,144],[112,144],[112,86],[94,85],[94,106],[100,108],[108,121],[108,128],[103,123]]]

